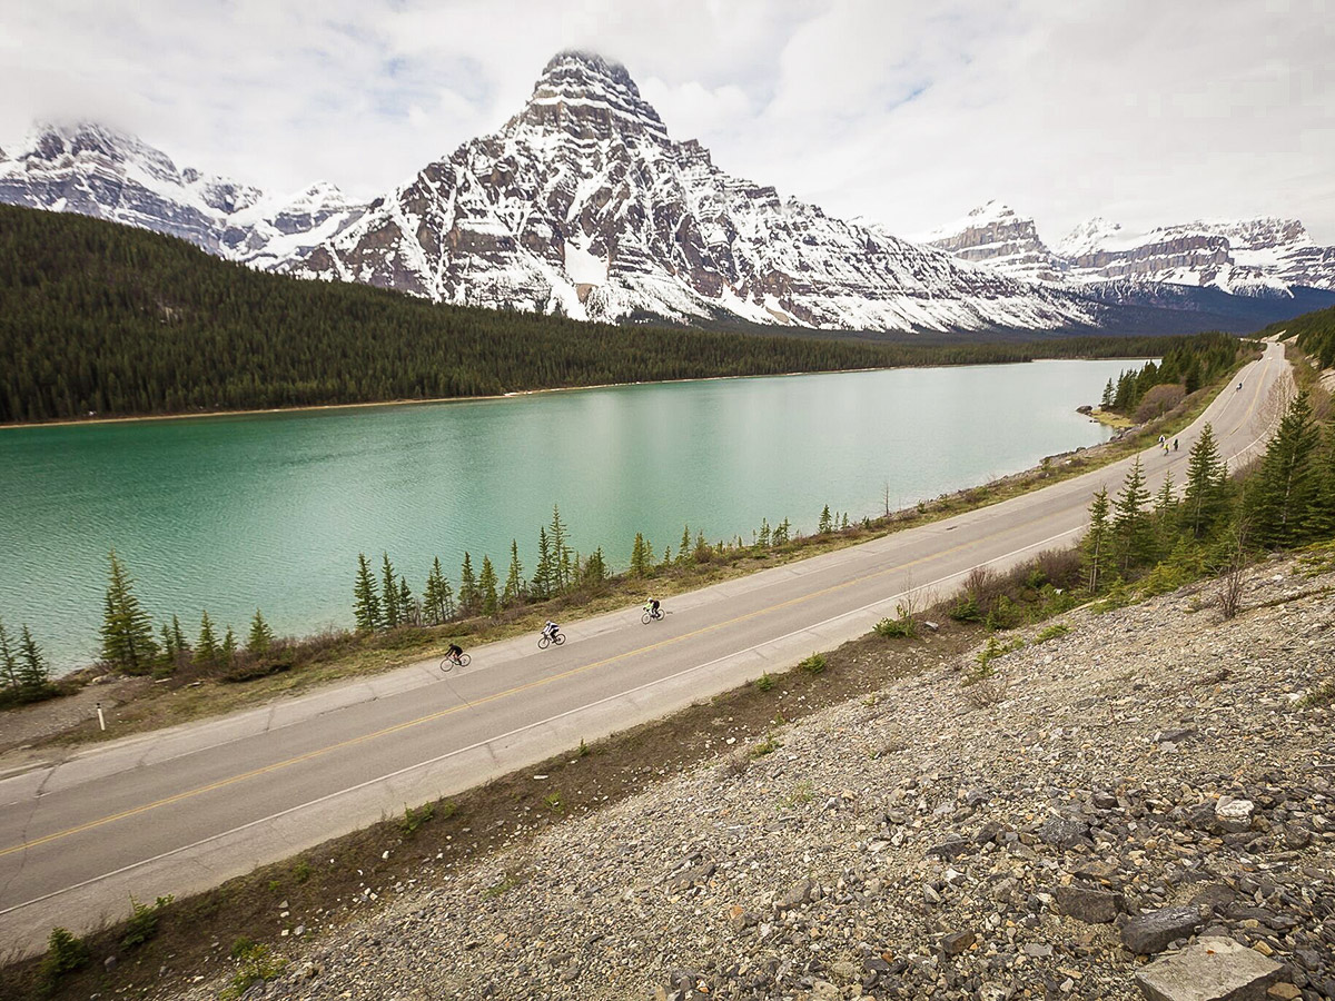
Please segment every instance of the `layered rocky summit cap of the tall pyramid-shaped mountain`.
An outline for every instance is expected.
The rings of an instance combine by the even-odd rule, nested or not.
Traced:
[[[649,137],[668,141],[658,112],[643,97],[621,63],[595,52],[566,49],[553,56],[533,88],[527,105],[507,124],[551,129],[579,141]]]

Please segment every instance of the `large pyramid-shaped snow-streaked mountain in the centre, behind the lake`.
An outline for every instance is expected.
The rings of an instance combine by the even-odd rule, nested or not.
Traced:
[[[623,67],[582,52],[286,270],[603,320],[1053,328],[1100,310],[733,178],[669,137]]]

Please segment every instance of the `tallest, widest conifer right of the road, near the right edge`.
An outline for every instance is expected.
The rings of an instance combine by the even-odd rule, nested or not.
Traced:
[[[1320,484],[1316,467],[1319,431],[1306,392],[1288,404],[1279,430],[1266,447],[1250,496],[1254,539],[1262,546],[1303,542],[1303,519]]]

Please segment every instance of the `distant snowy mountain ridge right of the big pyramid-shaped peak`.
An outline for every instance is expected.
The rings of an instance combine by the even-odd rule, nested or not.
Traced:
[[[1032,219],[989,202],[926,238],[964,260],[1117,302],[1172,302],[1144,286],[1218,288],[1240,296],[1292,296],[1295,288],[1335,291],[1335,248],[1316,246],[1296,219],[1195,222],[1148,232],[1093,218],[1053,248]]]

